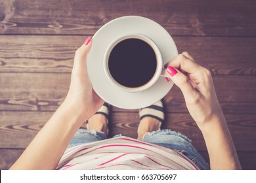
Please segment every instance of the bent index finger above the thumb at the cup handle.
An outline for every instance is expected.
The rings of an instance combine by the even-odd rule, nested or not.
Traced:
[[[168,66],[175,67],[189,74],[198,72],[198,69],[200,68],[200,65],[187,58],[183,54],[179,54],[174,59],[169,61],[169,63],[166,64],[166,67]]]

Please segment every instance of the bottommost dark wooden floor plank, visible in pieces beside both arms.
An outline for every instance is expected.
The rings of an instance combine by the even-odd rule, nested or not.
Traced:
[[[0,169],[9,169],[12,164],[20,157],[24,149],[0,149]],[[209,163],[208,153],[200,151],[205,161]],[[256,152],[238,152],[238,158],[242,168],[245,170],[255,170]]]

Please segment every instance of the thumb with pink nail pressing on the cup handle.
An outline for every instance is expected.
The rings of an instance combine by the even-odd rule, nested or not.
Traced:
[[[196,90],[186,75],[171,66],[167,67],[167,73],[170,75],[171,80],[181,89],[185,100],[194,96]]]

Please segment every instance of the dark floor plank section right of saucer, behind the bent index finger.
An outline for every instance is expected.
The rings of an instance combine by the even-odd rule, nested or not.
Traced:
[[[255,38],[174,37],[173,39],[180,53],[189,52],[196,62],[209,69],[213,75],[256,75],[256,60],[251,58],[253,48],[256,46]]]

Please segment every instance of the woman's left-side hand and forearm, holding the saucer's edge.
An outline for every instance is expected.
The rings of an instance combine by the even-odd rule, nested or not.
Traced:
[[[103,105],[87,75],[91,37],[75,52],[70,90],[62,105],[37,133],[11,169],[56,169],[75,132]],[[30,161],[28,161],[30,159]]]

